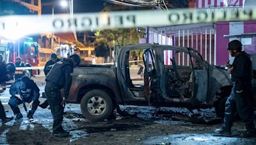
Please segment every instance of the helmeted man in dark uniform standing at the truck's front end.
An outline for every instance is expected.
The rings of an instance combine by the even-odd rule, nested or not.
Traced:
[[[237,110],[244,121],[246,132],[241,137],[256,135],[253,123],[253,88],[252,88],[252,61],[250,55],[242,52],[242,44],[238,40],[228,43],[228,52],[235,57],[228,73],[232,76],[234,86],[225,104],[225,117],[222,128],[215,130],[217,135],[231,135],[234,112]]]

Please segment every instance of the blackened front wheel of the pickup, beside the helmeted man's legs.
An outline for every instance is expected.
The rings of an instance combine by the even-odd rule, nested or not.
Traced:
[[[220,99],[216,100],[214,103],[215,105],[215,113],[218,117],[224,118],[225,115],[225,103],[228,97],[221,97]]]

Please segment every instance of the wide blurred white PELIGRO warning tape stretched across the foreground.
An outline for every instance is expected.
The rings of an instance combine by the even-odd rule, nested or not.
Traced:
[[[202,22],[256,20],[255,8],[172,9],[168,11],[113,11],[63,15],[13,15],[0,17],[0,36],[26,36],[43,32],[92,31],[193,24]]]

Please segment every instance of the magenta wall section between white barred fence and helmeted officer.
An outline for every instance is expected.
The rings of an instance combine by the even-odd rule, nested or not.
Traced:
[[[228,61],[227,44],[228,39],[223,38],[229,35],[229,22],[216,23],[216,65],[225,65]]]

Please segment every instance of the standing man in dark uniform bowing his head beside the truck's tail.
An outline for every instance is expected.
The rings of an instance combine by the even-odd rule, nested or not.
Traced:
[[[45,93],[49,102],[53,118],[53,137],[68,137],[69,133],[63,130],[63,111],[65,99],[68,97],[70,85],[72,83],[73,68],[81,62],[79,55],[71,55],[69,59],[63,59],[52,66],[51,71],[46,76]],[[61,97],[61,88],[64,88],[64,96]]]

